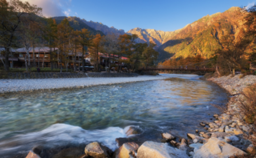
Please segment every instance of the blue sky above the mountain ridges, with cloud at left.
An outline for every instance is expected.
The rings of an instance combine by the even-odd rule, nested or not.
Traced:
[[[76,16],[109,27],[174,31],[201,17],[232,6],[252,6],[256,0],[21,0],[43,8],[51,16]]]

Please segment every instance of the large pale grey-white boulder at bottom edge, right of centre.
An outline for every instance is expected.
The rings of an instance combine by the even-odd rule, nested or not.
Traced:
[[[167,145],[167,143],[156,143],[146,141],[137,153],[137,158],[189,158],[186,151],[181,151]]]

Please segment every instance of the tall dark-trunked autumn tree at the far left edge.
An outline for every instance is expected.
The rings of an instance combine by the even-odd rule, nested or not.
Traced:
[[[28,17],[41,15],[42,9],[19,0],[0,0],[0,45],[5,49],[5,69],[9,71],[11,47],[19,47],[18,31],[21,22],[33,21]],[[26,17],[26,18],[23,18]]]

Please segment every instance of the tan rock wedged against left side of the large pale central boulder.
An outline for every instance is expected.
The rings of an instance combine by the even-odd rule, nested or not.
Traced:
[[[130,158],[130,155],[135,155],[139,145],[134,142],[124,143],[115,153],[115,158]]]

